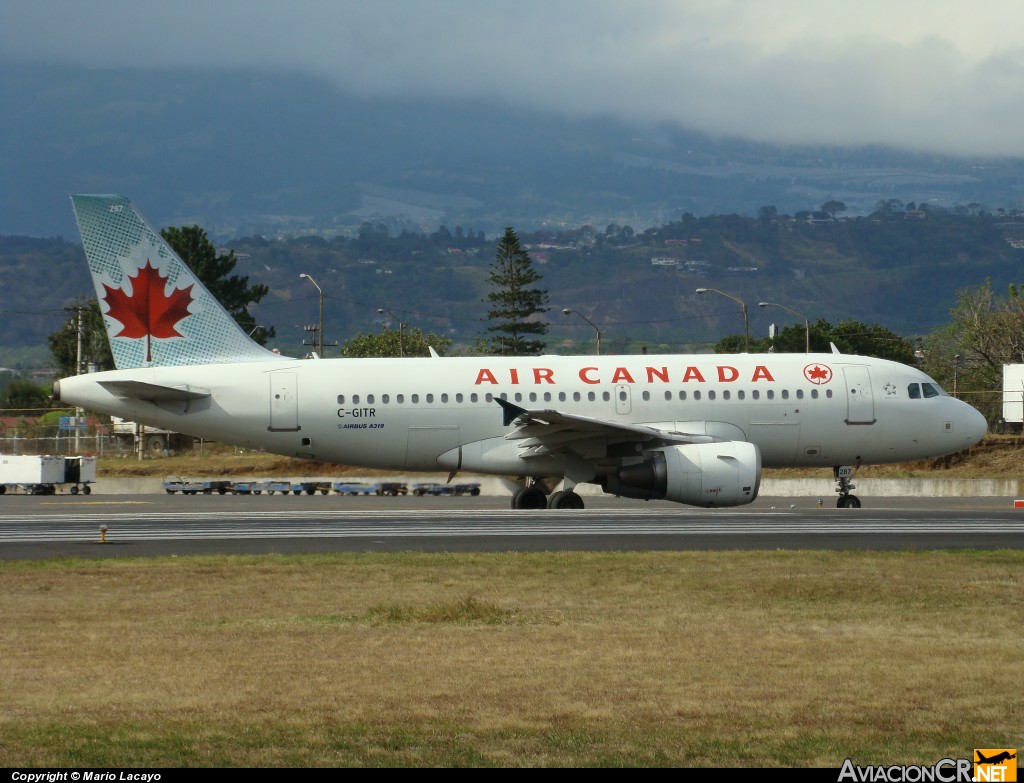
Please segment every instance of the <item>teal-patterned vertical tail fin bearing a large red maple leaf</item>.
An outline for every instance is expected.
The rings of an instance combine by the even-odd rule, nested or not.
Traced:
[[[251,340],[123,195],[72,195],[118,369],[281,359]]]

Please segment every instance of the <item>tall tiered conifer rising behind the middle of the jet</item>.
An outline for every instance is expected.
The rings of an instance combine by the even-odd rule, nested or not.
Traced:
[[[545,344],[538,338],[548,333],[548,324],[532,317],[548,311],[548,292],[535,287],[540,279],[519,237],[511,226],[506,227],[487,277],[492,288],[487,294],[489,337],[484,341],[487,353],[536,356],[544,352]]]

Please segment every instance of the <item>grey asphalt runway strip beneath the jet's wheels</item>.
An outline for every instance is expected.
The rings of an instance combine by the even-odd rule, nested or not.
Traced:
[[[872,498],[856,510],[777,497],[738,509],[615,497],[587,504],[514,512],[507,497],[8,495],[0,502],[0,559],[1024,546],[1024,510],[1005,497]]]

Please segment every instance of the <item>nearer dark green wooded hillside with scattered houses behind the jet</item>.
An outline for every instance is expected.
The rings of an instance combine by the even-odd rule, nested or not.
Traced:
[[[711,350],[723,336],[741,333],[742,320],[735,302],[698,296],[701,287],[746,302],[756,336],[772,322],[781,329],[797,320],[758,308],[761,301],[812,321],[858,320],[924,336],[948,321],[959,289],[989,280],[1005,291],[1021,280],[1019,213],[899,202],[881,203],[867,217],[844,219],[842,212],[836,203],[829,212],[793,216],[764,207],[757,217],[685,214],[649,228],[520,233],[549,293],[548,350],[593,347],[591,327],[563,308],[598,324],[608,352]],[[303,325],[317,316],[317,292],[300,273],[324,291],[329,346],[392,316],[449,335],[457,350],[485,328],[496,241],[481,232],[455,226],[391,235],[387,226],[367,223],[356,236],[246,237],[230,248],[239,256],[236,271],[270,288],[253,312],[276,329],[274,342],[286,353],[303,351]],[[63,308],[92,296],[81,247],[63,240],[0,236],[0,349],[45,344],[68,317]]]

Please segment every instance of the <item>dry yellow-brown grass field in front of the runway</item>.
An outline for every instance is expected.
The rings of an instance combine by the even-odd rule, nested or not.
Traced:
[[[0,767],[826,767],[1019,747],[1024,553],[0,562]]]

